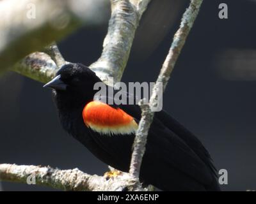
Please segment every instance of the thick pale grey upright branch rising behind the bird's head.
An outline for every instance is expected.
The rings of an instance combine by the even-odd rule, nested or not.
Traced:
[[[111,18],[103,50],[90,68],[106,84],[119,82],[127,64],[135,31],[150,0],[111,0]]]

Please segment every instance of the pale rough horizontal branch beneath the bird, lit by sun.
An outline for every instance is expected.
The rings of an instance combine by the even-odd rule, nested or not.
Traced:
[[[38,186],[64,191],[123,191],[127,187],[132,190],[134,184],[134,180],[128,173],[106,179],[83,173],[77,168],[58,170],[50,166],[0,164],[0,180],[28,184],[28,181],[33,181],[33,178]]]

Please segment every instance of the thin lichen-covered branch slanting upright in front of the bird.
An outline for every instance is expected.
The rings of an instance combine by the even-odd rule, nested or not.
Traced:
[[[159,84],[163,84],[163,92],[168,84],[172,70],[177,62],[184,43],[188,37],[189,31],[195,22],[195,19],[200,10],[203,0],[191,0],[189,8],[184,13],[179,30],[175,33],[172,46],[163,63],[160,74],[157,78],[156,85],[154,85],[152,96],[148,105],[141,103],[141,120],[134,139],[130,173],[133,177],[138,178],[140,175],[140,167],[145,152],[145,145],[147,143],[148,130],[154,118],[152,108],[157,104],[157,93],[159,92]]]

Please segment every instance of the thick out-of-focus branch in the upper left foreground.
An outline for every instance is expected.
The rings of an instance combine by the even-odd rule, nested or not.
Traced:
[[[61,40],[83,24],[99,24],[105,0],[0,1],[0,71]],[[95,20],[97,19],[97,20]]]

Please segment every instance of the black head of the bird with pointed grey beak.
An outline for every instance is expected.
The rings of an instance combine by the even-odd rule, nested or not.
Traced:
[[[79,63],[69,63],[63,65],[56,77],[44,87],[54,90],[57,103],[65,101],[69,106],[77,106],[93,99],[97,92],[93,86],[97,82],[102,81],[90,68]]]

